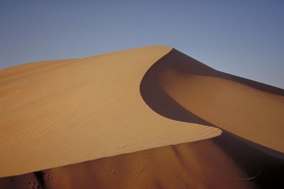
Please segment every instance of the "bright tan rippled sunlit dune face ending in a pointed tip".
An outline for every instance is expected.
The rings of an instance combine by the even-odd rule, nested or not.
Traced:
[[[141,78],[171,50],[150,46],[0,70],[0,177],[220,135],[165,118],[141,98]]]

